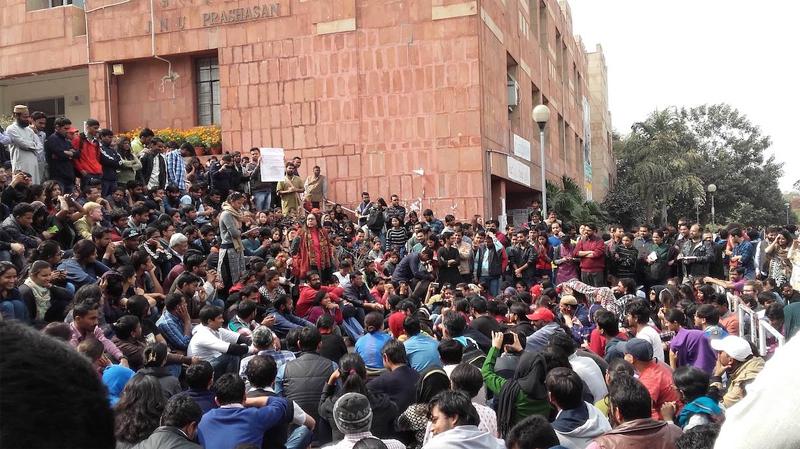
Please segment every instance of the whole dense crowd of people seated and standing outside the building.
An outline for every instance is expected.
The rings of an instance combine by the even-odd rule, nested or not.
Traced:
[[[14,115],[6,447],[800,444],[776,381],[800,351],[794,226],[347,208],[299,157],[265,181],[258,149],[202,162],[149,129]],[[766,351],[740,308],[778,334]]]

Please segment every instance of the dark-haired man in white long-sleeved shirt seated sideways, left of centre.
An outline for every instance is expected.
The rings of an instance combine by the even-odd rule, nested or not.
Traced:
[[[241,357],[250,351],[250,339],[223,327],[225,318],[220,307],[203,307],[200,323],[192,329],[186,355],[211,363],[214,378],[225,373],[238,373]]]

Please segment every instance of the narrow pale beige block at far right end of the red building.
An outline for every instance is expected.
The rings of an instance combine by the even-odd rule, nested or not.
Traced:
[[[608,110],[608,68],[603,47],[595,46],[586,54],[591,107],[591,192],[592,199],[601,202],[617,177],[617,162],[611,138],[611,112]]]

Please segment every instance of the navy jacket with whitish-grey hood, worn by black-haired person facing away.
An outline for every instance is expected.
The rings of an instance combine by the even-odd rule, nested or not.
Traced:
[[[611,430],[611,424],[597,407],[584,402],[578,408],[558,412],[553,429],[562,446],[583,449],[593,438]]]

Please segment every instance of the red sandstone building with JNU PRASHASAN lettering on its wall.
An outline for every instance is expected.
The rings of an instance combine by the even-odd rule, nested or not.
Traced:
[[[605,85],[590,96],[587,81],[605,73],[587,73],[566,2],[5,0],[0,29],[3,112],[219,124],[226,150],[320,165],[344,204],[367,190],[461,218],[525,207],[541,185],[539,103],[548,179],[589,196],[592,177],[613,180],[613,164],[591,166],[611,154],[590,132],[610,134]]]

